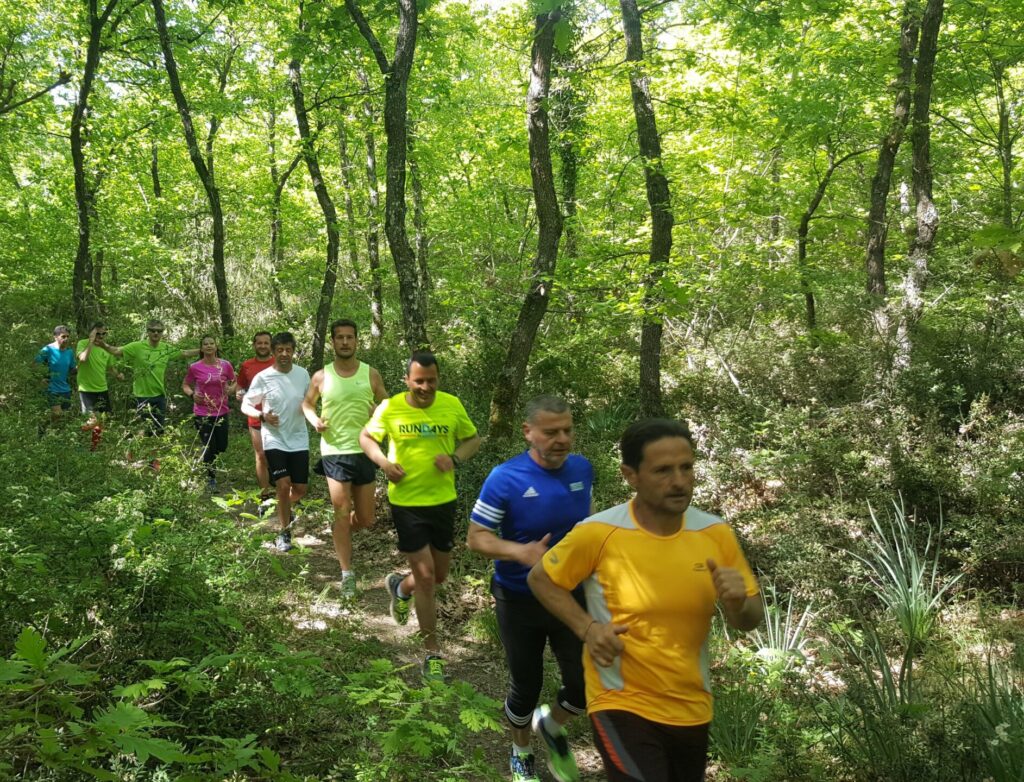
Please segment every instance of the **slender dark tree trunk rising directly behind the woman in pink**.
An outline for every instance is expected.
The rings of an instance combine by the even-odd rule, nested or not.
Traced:
[[[231,317],[231,304],[227,292],[227,274],[224,270],[224,213],[220,205],[220,191],[213,178],[213,172],[207,167],[200,150],[199,139],[193,124],[191,110],[181,90],[181,80],[178,78],[178,66],[171,48],[170,35],[167,32],[167,15],[164,12],[164,0],[153,0],[153,10],[157,18],[157,33],[160,36],[160,48],[164,54],[164,67],[167,70],[167,80],[174,95],[174,103],[181,118],[185,143],[188,146],[188,158],[196,174],[203,183],[206,198],[210,205],[210,216],[213,219],[213,284],[217,292],[217,309],[220,312],[220,330],[224,337],[234,336],[234,320]],[[211,151],[207,146],[208,153]]]

